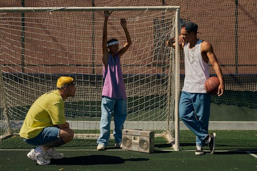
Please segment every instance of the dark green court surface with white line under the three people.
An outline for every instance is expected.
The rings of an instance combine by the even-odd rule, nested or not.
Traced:
[[[213,132],[213,131],[211,131]],[[217,130],[216,151],[196,156],[195,137],[180,131],[180,151],[174,151],[163,137],[155,138],[155,153],[115,149],[114,140],[104,151],[96,140],[75,139],[57,148],[65,158],[37,165],[26,154],[33,147],[20,137],[0,142],[0,170],[257,170],[256,130]]]

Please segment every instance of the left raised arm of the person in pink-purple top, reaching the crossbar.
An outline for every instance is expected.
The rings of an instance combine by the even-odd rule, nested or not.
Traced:
[[[102,51],[103,51],[103,64],[105,67],[107,67],[108,63],[108,55],[109,51],[107,48],[107,22],[108,22],[108,17],[112,14],[112,12],[109,11],[104,11],[104,23],[103,23],[103,44],[102,44]]]

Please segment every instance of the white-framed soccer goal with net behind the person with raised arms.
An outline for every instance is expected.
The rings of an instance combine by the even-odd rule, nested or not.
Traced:
[[[97,137],[103,11],[113,11],[108,39],[125,43],[120,18],[126,18],[132,39],[121,58],[127,92],[124,128],[167,135],[178,149],[179,46],[166,45],[171,37],[178,39],[177,6],[0,8],[1,138],[19,132],[31,104],[55,89],[61,75],[76,79],[76,95],[65,101],[70,127],[79,138]]]

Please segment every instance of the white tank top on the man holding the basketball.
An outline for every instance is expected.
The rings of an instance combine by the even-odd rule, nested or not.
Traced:
[[[194,48],[189,49],[189,43],[184,45],[185,81],[182,91],[191,93],[206,93],[205,81],[209,76],[209,64],[201,56],[201,43],[198,40]]]

